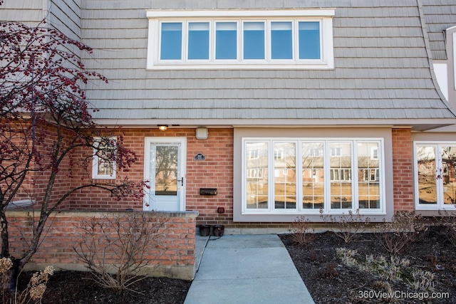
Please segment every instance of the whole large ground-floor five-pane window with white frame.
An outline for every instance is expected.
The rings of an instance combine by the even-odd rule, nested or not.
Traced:
[[[381,139],[244,138],[242,146],[244,214],[385,211]]]

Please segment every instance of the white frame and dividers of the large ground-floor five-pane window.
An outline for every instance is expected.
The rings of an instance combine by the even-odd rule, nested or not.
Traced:
[[[379,209],[359,209],[361,214],[363,215],[385,215],[386,214],[386,193],[385,193],[385,154],[384,154],[384,143],[383,138],[371,138],[371,137],[361,137],[361,138],[321,138],[316,140],[315,138],[276,138],[276,137],[243,137],[242,138],[242,214],[249,215],[249,214],[314,214],[318,215],[320,213],[320,209],[304,209],[302,208],[301,198],[302,194],[302,179],[298,178],[300,175],[296,174],[296,206],[297,209],[274,209],[274,202],[270,202],[268,209],[247,209],[246,201],[247,201],[247,178],[246,178],[246,168],[247,168],[247,157],[245,155],[245,147],[246,142],[268,142],[269,147],[269,183],[274,182],[274,142],[296,142],[296,159],[302,159],[302,150],[299,148],[301,142],[323,142],[323,150],[326,151],[326,155],[324,157],[324,169],[323,175],[328,177],[324,179],[324,204],[323,204],[323,214],[347,214],[348,211],[356,211],[358,209],[358,174],[353,174],[353,172],[357,172],[358,164],[356,161],[357,149],[356,143],[358,142],[378,142],[378,169],[380,170],[380,180],[379,183],[379,194],[380,194],[380,208]],[[351,184],[352,184],[352,197],[353,197],[353,204],[351,209],[331,209],[331,193],[329,191],[331,178],[330,177],[330,159],[331,159],[331,151],[329,147],[330,142],[351,142],[351,157],[352,157],[352,176],[351,176]],[[272,154],[271,154],[272,153]],[[272,157],[271,157],[272,155]],[[296,162],[296,172],[302,172],[302,162]],[[353,171],[354,170],[354,171]],[[274,197],[274,187],[268,187],[269,198]]]

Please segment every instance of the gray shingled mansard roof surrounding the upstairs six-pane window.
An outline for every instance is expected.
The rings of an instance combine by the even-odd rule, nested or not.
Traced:
[[[318,7],[336,9],[333,70],[145,70],[145,9]],[[455,122],[435,90],[416,0],[93,0],[82,9],[83,42],[95,48],[86,66],[110,80],[87,87],[100,121]],[[426,20],[442,21],[430,23],[429,33],[432,53],[441,57],[439,26],[456,13],[443,16],[437,5],[423,11],[432,12]]]

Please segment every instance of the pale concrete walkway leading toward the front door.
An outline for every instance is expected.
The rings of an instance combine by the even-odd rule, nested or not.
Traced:
[[[197,246],[206,241],[197,236]],[[314,300],[279,236],[225,235],[207,241],[185,298],[185,304],[205,303],[307,304]]]

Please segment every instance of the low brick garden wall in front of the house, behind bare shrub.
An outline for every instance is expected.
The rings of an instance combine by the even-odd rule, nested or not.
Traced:
[[[84,271],[73,247],[82,240],[85,219],[128,215],[130,212],[61,211],[51,215],[43,232],[42,243],[27,268],[42,269],[53,265],[63,270]],[[11,256],[19,257],[31,236],[33,217],[28,211],[8,211]],[[37,215],[36,215],[37,216]],[[195,265],[195,218],[197,212],[160,213],[165,224],[147,251],[146,274],[190,280]],[[37,220],[37,218],[36,218]]]

